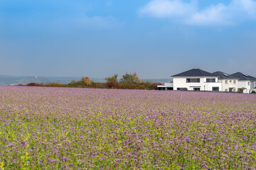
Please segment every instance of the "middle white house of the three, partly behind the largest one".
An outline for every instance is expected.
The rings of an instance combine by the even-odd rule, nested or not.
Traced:
[[[222,86],[221,91],[238,91],[238,78],[224,72],[213,72],[213,74],[218,76],[218,82],[220,82]]]

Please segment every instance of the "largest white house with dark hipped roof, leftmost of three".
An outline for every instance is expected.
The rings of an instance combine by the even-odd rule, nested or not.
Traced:
[[[222,91],[218,76],[201,69],[191,69],[172,76],[174,90]]]

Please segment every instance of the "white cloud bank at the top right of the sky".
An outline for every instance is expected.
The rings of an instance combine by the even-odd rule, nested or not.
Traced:
[[[182,0],[152,0],[140,9],[140,13],[161,18],[180,18],[189,25],[230,25],[256,19],[256,1],[231,0],[197,10],[196,1],[185,3]]]

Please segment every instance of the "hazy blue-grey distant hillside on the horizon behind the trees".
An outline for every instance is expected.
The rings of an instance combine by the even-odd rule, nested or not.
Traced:
[[[81,77],[16,77],[16,76],[6,76],[0,75],[0,85],[10,85],[10,84],[28,84],[28,83],[40,83],[48,84],[50,82],[60,82],[62,84],[68,84],[71,80],[78,81]],[[90,78],[91,81],[105,82],[105,79]],[[142,81],[151,81],[153,83],[159,82],[164,84],[164,82],[169,82],[172,79],[141,79]]]

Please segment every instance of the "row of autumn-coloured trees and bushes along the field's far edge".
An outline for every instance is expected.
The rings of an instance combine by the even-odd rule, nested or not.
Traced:
[[[55,87],[80,87],[80,88],[100,88],[100,89],[157,89],[157,85],[160,83],[152,83],[151,81],[141,81],[137,76],[137,73],[126,73],[118,81],[118,74],[114,74],[112,77],[106,77],[105,83],[99,83],[90,81],[89,77],[82,77],[80,81],[72,80],[69,84],[50,83],[50,84],[36,84],[31,83],[27,86],[55,86]]]

